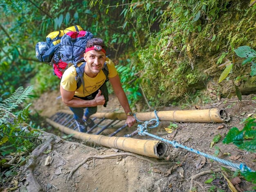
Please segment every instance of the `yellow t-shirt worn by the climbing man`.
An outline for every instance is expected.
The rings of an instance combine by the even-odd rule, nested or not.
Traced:
[[[117,76],[117,69],[115,68],[114,63],[109,58],[106,58],[106,63],[108,66],[108,78]],[[82,63],[78,64],[78,66],[80,65],[82,65]],[[102,70],[94,78],[90,78],[84,74],[83,80],[85,83],[85,87],[83,91],[83,85],[81,85],[79,89],[76,90],[75,77],[76,77],[76,69],[74,66],[71,66],[64,72],[61,79],[61,86],[66,91],[69,91],[69,92],[76,91],[75,95],[79,97],[85,97],[96,92],[106,80],[106,76]]]

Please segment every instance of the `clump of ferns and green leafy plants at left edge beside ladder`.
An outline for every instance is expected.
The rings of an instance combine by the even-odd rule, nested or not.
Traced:
[[[33,87],[19,87],[9,98],[0,103],[0,154],[29,152],[33,149],[38,132],[24,124],[29,105],[13,115],[11,112],[31,93]]]

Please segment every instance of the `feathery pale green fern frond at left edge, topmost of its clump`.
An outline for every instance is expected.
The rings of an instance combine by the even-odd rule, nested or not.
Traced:
[[[0,103],[0,108],[10,112],[12,109],[18,107],[18,104],[22,103],[25,98],[31,93],[33,86],[29,86],[26,89],[19,87],[16,91],[7,99]]]

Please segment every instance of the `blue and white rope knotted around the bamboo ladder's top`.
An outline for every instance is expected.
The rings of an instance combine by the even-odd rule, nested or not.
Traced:
[[[162,138],[162,137],[159,137],[159,136],[156,136],[156,135],[154,135],[154,134],[148,133],[147,128],[152,129],[152,128],[155,128],[155,127],[157,127],[157,126],[159,125],[159,118],[158,118],[158,116],[157,116],[156,110],[155,110],[154,112],[155,112],[156,118],[151,119],[150,121],[145,121],[145,122],[144,122],[144,121],[139,121],[139,120],[136,118],[136,116],[135,116],[135,118],[136,118],[136,120],[137,120],[138,122],[141,122],[141,123],[144,122],[144,124],[138,125],[138,128],[137,128],[138,134],[139,134],[140,136],[146,136],[146,135],[151,136],[151,137],[153,137],[153,138],[159,139],[159,140],[164,141],[164,142],[166,142],[166,143],[170,143],[170,144],[173,145],[173,147],[175,147],[175,148],[180,147],[180,148],[183,148],[183,149],[188,150],[188,151],[190,151],[190,152],[193,152],[193,153],[195,153],[195,154],[199,154],[199,155],[202,155],[202,156],[204,156],[204,157],[206,157],[206,158],[213,159],[214,161],[217,161],[217,162],[226,164],[226,165],[228,165],[228,166],[230,166],[230,167],[234,167],[234,168],[236,168],[236,169],[240,169],[241,172],[244,172],[244,171],[246,171],[246,170],[248,170],[248,171],[250,171],[250,172],[254,172],[252,169],[250,169],[249,167],[247,167],[247,165],[245,165],[245,163],[240,163],[240,164],[238,164],[238,163],[232,163],[232,162],[230,162],[230,161],[226,161],[226,160],[220,159],[220,158],[218,158],[218,157],[216,157],[216,156],[213,156],[213,155],[210,155],[210,154],[206,154],[206,153],[203,153],[203,152],[194,150],[194,149],[192,149],[192,148],[190,148],[190,147],[186,147],[186,146],[184,146],[184,145],[181,145],[180,143],[177,143],[176,141],[169,141],[169,140],[164,139],[164,138]],[[154,124],[154,123],[155,123],[155,125],[153,125],[153,126],[148,126],[148,124],[152,125],[152,124]]]

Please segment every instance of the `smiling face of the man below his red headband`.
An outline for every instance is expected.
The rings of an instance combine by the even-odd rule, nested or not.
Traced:
[[[106,55],[102,51],[91,50],[83,54],[86,61],[85,74],[89,77],[95,77],[104,67]]]

